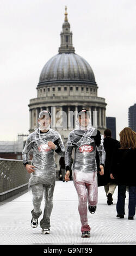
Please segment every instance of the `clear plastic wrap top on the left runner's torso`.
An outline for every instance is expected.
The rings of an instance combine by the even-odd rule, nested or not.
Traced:
[[[27,138],[22,152],[23,163],[28,162],[29,153],[32,150],[32,165],[35,167],[34,172],[30,174],[29,187],[34,184],[55,184],[54,150],[48,147],[49,141],[58,145],[56,153],[65,155],[65,147],[57,131],[49,129],[47,132],[40,132],[36,129]]]

